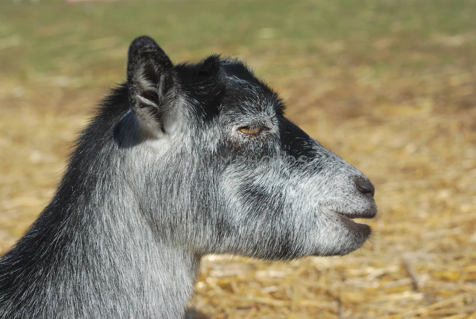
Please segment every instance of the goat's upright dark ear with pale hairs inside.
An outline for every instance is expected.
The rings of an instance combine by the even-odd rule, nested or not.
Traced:
[[[127,86],[129,104],[137,118],[151,129],[164,131],[178,86],[169,57],[147,36],[136,38],[130,44]]]

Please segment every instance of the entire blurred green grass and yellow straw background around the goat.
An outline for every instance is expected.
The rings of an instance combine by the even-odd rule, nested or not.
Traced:
[[[207,257],[196,318],[476,318],[474,0],[2,0],[0,254],[143,34],[176,62],[245,59],[377,189],[373,239],[346,257]]]

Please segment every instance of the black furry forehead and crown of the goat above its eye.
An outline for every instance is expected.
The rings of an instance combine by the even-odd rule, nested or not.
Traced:
[[[176,70],[194,113],[204,118],[220,113],[263,118],[282,114],[278,95],[237,59],[211,56],[198,64],[180,64]]]

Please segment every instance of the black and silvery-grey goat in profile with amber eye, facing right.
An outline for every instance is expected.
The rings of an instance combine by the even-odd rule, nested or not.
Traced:
[[[0,318],[180,319],[200,258],[344,255],[374,187],[238,59],[173,65],[149,37],[51,202],[0,259]]]

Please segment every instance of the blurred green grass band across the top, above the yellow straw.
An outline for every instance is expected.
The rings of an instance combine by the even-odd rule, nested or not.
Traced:
[[[305,66],[431,74],[474,65],[475,10],[474,0],[3,3],[0,73],[108,86],[117,74],[95,74],[121,70],[131,39],[148,34],[173,60],[248,57],[268,78]]]

